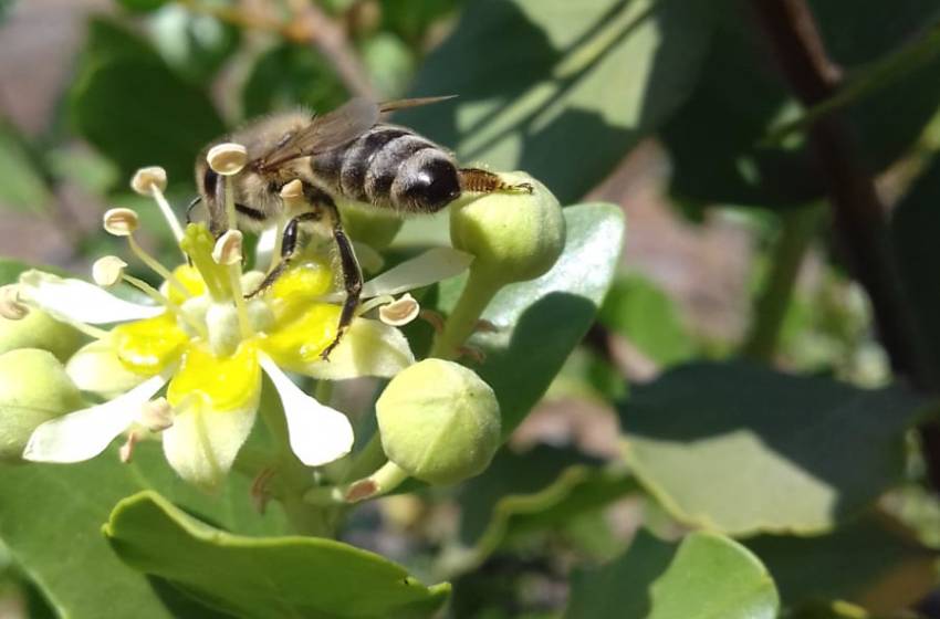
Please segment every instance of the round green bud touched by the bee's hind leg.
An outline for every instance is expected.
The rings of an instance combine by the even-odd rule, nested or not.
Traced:
[[[468,196],[451,206],[451,243],[473,254],[471,270],[501,284],[534,280],[555,264],[564,249],[562,207],[544,185],[524,172],[501,174],[500,179],[518,189]]]

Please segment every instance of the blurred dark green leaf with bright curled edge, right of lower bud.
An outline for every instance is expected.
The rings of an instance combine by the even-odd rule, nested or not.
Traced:
[[[516,535],[563,526],[634,492],[626,471],[602,469],[573,450],[502,450],[460,491],[460,539],[469,549],[452,569],[479,566]]]

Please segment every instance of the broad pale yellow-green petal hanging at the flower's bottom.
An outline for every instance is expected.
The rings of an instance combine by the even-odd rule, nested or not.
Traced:
[[[177,410],[164,430],[164,455],[184,480],[206,490],[217,489],[232,468],[254,426],[261,389],[244,408],[213,410],[195,400]]]

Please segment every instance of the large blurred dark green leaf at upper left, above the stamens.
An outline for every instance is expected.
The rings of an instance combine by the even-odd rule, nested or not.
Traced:
[[[197,153],[224,130],[209,97],[134,35],[115,27],[96,32],[71,92],[76,130],[124,178],[159,165],[171,182],[189,182]]]

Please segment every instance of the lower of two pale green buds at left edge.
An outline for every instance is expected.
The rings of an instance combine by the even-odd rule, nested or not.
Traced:
[[[40,423],[83,406],[79,388],[48,350],[0,355],[0,461],[19,461]]]

